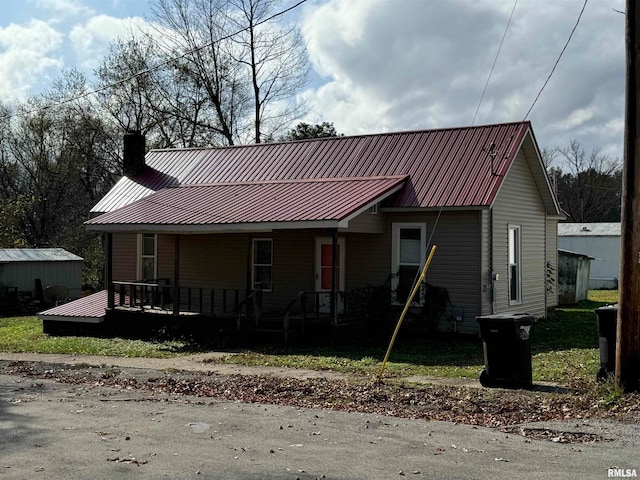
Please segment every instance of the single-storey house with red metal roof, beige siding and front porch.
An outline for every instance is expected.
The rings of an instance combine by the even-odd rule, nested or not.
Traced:
[[[418,323],[476,333],[478,315],[557,304],[562,216],[529,122],[146,156],[127,134],[124,153],[125,176],[86,222],[107,245],[100,321],[233,317],[285,338],[322,322],[378,328],[432,244]]]

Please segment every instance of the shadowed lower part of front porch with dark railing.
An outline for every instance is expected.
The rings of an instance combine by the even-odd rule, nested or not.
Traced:
[[[262,338],[285,345],[306,343],[318,335],[331,339],[341,335],[336,330],[364,324],[362,317],[351,314],[349,295],[337,290],[301,290],[283,308],[266,309],[265,295],[256,289],[214,289],[165,281],[113,281],[111,285],[106,292],[105,322],[131,326],[144,318],[154,328],[185,327],[211,340],[232,339],[243,344]]]

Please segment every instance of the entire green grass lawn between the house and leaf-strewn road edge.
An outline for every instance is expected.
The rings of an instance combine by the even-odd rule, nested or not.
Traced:
[[[593,382],[599,367],[598,334],[594,310],[616,303],[618,292],[591,291],[577,305],[552,310],[531,334],[535,381]],[[35,317],[0,318],[0,351],[169,357],[201,352],[206,345],[185,341],[143,341],[119,338],[49,336]],[[244,365],[275,365],[314,370],[377,375],[386,346],[305,347],[265,346],[233,353],[221,361]],[[385,376],[429,375],[476,378],[484,363],[482,342],[447,337],[423,345],[399,344],[391,353]]]

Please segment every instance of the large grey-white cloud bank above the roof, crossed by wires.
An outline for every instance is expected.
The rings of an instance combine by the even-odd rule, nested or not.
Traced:
[[[476,124],[524,118],[583,0],[520,0]],[[513,0],[328,0],[302,29],[325,84],[303,97],[339,131],[469,125]],[[621,156],[622,0],[591,2],[529,115],[542,147],[577,139]]]

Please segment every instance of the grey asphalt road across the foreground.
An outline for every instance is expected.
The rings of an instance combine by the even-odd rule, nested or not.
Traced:
[[[0,375],[2,479],[605,479],[640,474],[640,426],[561,443],[497,429]],[[635,470],[632,470],[635,469]]]

